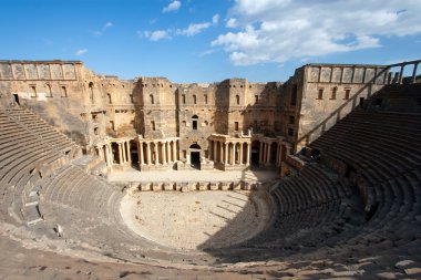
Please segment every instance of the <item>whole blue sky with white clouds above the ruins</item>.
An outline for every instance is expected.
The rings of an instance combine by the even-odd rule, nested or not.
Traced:
[[[286,81],[307,63],[421,59],[421,0],[3,0],[1,60],[176,83]]]

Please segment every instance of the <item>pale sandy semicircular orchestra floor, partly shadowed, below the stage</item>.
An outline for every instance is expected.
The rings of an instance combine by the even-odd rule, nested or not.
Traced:
[[[182,250],[244,241],[269,217],[266,201],[247,191],[137,191],[126,195],[121,212],[136,234]]]

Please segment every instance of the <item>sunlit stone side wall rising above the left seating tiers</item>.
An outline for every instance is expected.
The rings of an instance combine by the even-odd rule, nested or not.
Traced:
[[[80,145],[99,134],[90,118],[102,111],[101,86],[79,61],[1,61],[0,89]]]

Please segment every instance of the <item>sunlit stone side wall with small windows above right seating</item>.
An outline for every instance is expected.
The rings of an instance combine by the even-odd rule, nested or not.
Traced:
[[[310,64],[304,68],[297,149],[315,141],[379,91],[387,71],[376,65]]]

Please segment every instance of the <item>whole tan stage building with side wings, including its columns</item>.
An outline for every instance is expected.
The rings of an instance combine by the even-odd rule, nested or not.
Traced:
[[[308,64],[285,83],[175,84],[96,75],[80,61],[0,61],[7,102],[31,108],[109,167],[141,170],[285,173],[288,155],[398,79],[382,65]]]

